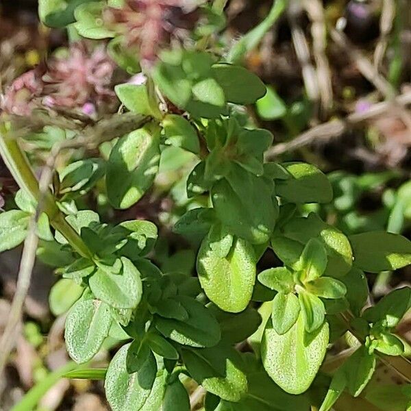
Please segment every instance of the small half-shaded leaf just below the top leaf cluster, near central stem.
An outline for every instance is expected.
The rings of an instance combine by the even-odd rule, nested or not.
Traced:
[[[195,128],[182,116],[166,114],[162,121],[166,144],[181,147],[198,154],[200,151],[199,136]]]

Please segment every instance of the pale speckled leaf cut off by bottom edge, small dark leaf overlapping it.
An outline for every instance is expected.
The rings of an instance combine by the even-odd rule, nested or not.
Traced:
[[[129,344],[117,351],[105,377],[105,396],[113,411],[153,411],[160,409],[164,393],[164,378],[156,377],[157,364],[153,357],[138,373],[129,374],[126,357]]]

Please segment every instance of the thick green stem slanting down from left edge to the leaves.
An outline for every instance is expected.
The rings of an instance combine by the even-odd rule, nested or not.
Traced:
[[[56,205],[52,192],[50,190],[40,192],[32,166],[30,166],[16,139],[8,135],[8,129],[3,123],[0,124],[0,155],[18,186],[29,192],[37,201],[41,199],[42,210],[49,216],[51,225],[66,238],[77,253],[83,257],[91,258],[92,253],[82,238],[64,219],[64,214]]]

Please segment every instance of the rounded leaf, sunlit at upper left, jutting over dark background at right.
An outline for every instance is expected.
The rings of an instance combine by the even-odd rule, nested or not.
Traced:
[[[277,195],[291,203],[329,203],[332,186],[327,176],[316,166],[301,162],[282,164],[290,173],[290,179],[278,180]]]

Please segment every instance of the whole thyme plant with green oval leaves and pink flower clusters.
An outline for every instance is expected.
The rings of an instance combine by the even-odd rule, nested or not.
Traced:
[[[88,364],[70,375],[103,377],[114,411],[188,411],[190,380],[206,411],[348,410],[351,397],[392,411],[391,395],[405,410],[410,347],[396,326],[411,290],[371,305],[364,273],[410,264],[411,242],[346,236],[315,212],[333,199],[326,175],[264,161],[273,136],[245,106],[266,87],[240,62],[286,1],[234,45],[220,36],[224,5],[40,0],[42,22],[67,27],[71,45],[5,94],[0,151],[20,190],[0,214],[0,249],[35,221],[38,257],[62,277],[51,308],[67,312],[69,355]],[[197,253],[195,275],[184,254],[153,262],[153,222],[110,219],[144,201],[171,152],[190,167],[171,223]],[[39,186],[41,158],[53,173]],[[266,253],[278,263],[259,272]],[[97,371],[102,346],[116,350]],[[403,384],[375,400],[378,362]]]

